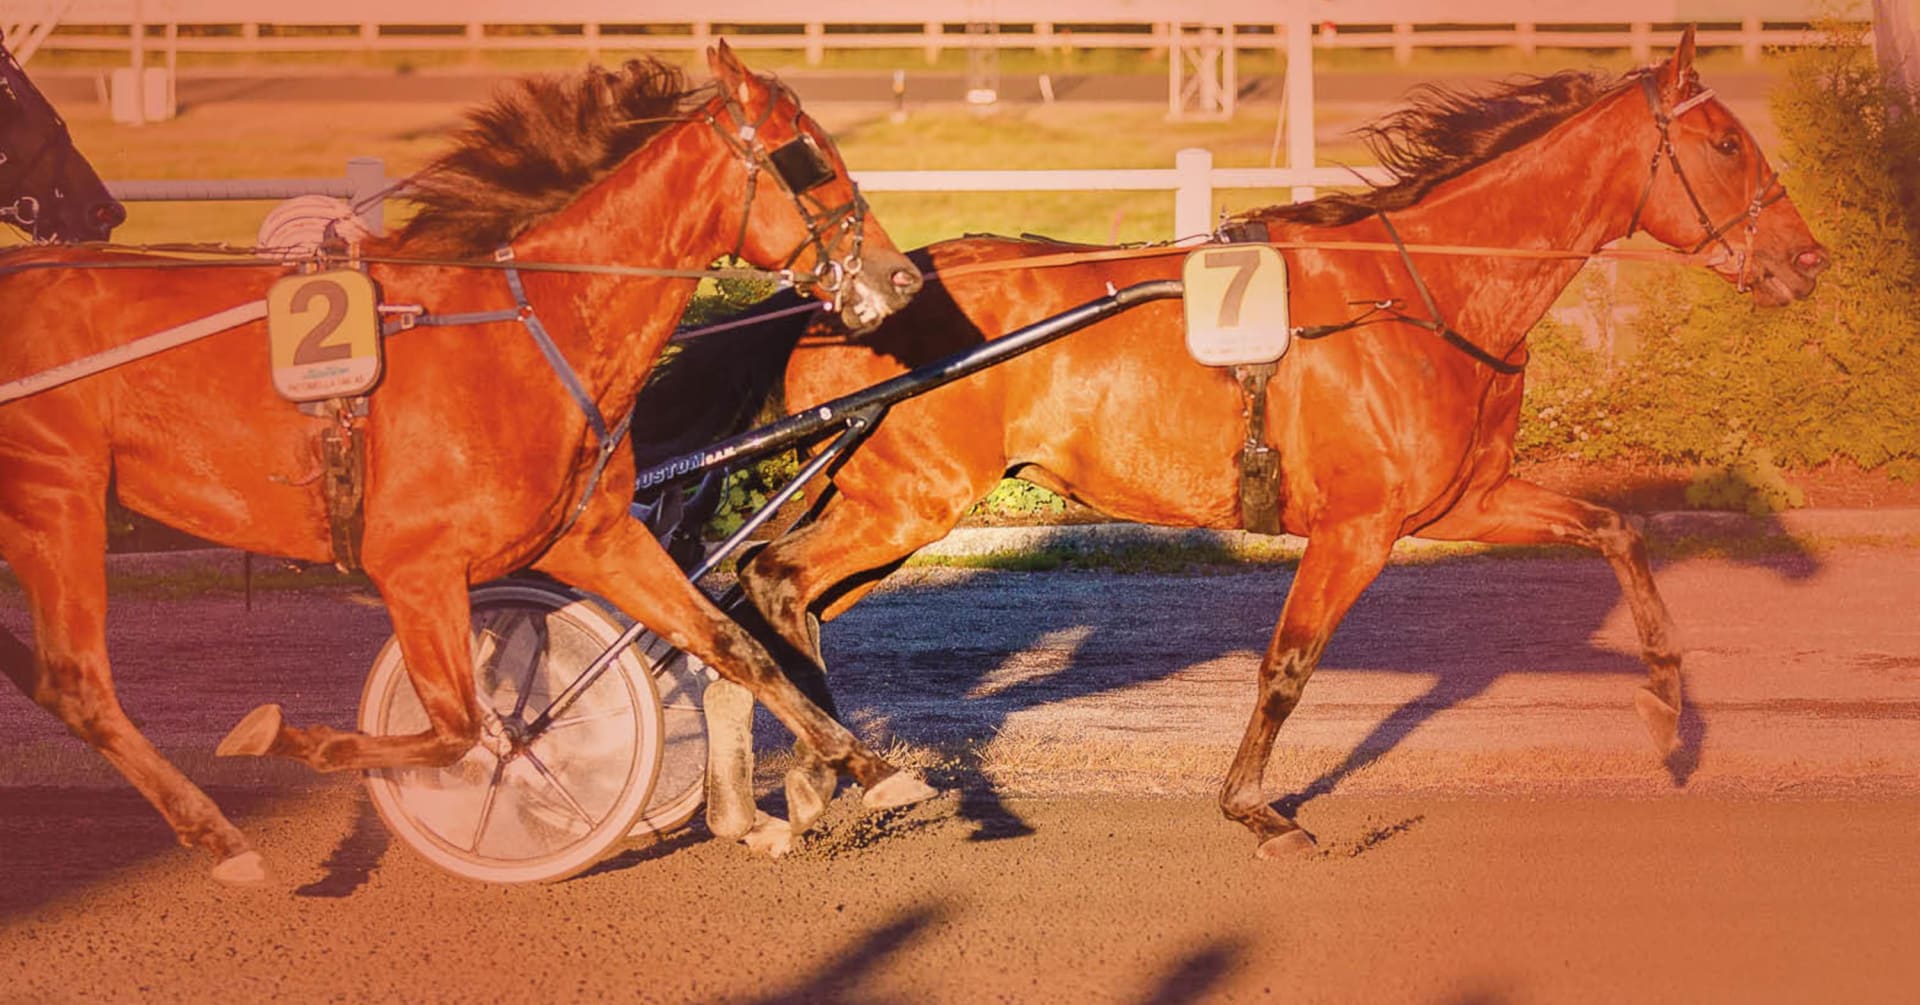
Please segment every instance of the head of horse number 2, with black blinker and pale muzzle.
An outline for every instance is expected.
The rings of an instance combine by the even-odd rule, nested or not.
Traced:
[[[870,331],[920,290],[920,269],[866,211],[833,138],[801,111],[791,88],[756,77],[726,42],[707,50],[718,96],[707,121],[739,154],[745,206],[735,254],[755,265],[812,269],[803,292]]]

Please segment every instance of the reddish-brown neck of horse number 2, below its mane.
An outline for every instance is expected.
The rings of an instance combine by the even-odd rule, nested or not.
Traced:
[[[737,221],[739,184],[726,181],[726,152],[712,129],[674,127],[637,150],[570,206],[520,234],[515,256],[647,269],[705,269],[732,244],[722,223]],[[538,282],[538,292],[536,292]],[[626,411],[641,379],[680,323],[695,282],[666,277],[545,273],[528,277],[541,317],[578,319],[580,350],[568,350],[609,415]],[[564,344],[563,344],[564,348]]]

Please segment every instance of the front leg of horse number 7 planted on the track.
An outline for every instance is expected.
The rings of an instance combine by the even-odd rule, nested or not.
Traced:
[[[1261,778],[1273,755],[1273,738],[1300,703],[1300,694],[1319,667],[1332,630],[1386,565],[1398,527],[1398,521],[1386,517],[1367,517],[1315,528],[1300,557],[1294,584],[1286,590],[1281,623],[1260,661],[1260,698],[1254,701],[1254,717],[1246,724],[1219,792],[1221,813],[1254,832],[1260,840],[1254,853],[1261,859],[1313,847],[1313,836],[1267,801]]]

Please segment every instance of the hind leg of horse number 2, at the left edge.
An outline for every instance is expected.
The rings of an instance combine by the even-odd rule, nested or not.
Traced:
[[[25,478],[13,480],[21,484]],[[104,492],[100,494],[104,500]],[[100,751],[121,776],[167,821],[182,846],[213,855],[213,878],[228,884],[261,884],[267,869],[246,836],[221,815],[213,799],[173,767],[127,719],[113,692],[106,640],[106,505],[83,500],[48,503],[31,513],[63,513],[17,519],[0,500],[4,540],[33,534],[36,548],[8,548],[6,559],[33,609],[33,650],[0,628],[0,671],[36,705],[60,719],[73,736]]]

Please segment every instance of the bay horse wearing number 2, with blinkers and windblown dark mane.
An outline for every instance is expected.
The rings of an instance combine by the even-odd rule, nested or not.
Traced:
[[[365,419],[307,415],[276,396],[259,321],[0,405],[0,555],[33,613],[33,650],[0,632],[0,669],[106,755],[180,844],[209,851],[215,878],[267,876],[113,696],[109,478],[129,509],[207,540],[355,559],[386,601],[430,723],[367,736],[292,726],[263,705],[221,753],[317,771],[457,761],[482,728],[468,586],[532,567],[605,596],[745,684],[866,786],[872,805],[931,794],[795,690],[628,513],[632,457],[612,450],[624,430],[605,417],[634,407],[701,269],[728,254],[762,269],[812,256],[799,281],[854,329],[920,288],[795,94],[724,42],[707,60],[714,81],[703,86],[668,63],[628,61],[520,81],[468,117],[411,179],[419,215],[357,252],[384,304],[430,313],[390,331]],[[13,252],[0,257],[0,300],[13,306],[0,380],[257,300],[288,271]],[[323,430],[365,448],[357,546],[330,519]]]

